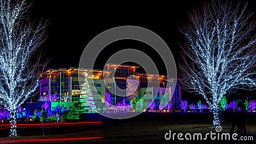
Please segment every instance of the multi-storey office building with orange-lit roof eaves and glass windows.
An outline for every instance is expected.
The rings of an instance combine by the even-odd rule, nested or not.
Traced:
[[[171,100],[173,108],[179,109],[180,85],[173,88],[173,80],[166,75],[143,74],[136,72],[136,65],[108,64],[104,70],[86,68],[49,69],[41,75],[39,101],[76,102],[81,95],[80,86],[84,83],[84,73],[97,108],[104,106],[104,97],[109,92],[112,104],[143,99],[144,109],[149,102],[156,102],[158,108],[163,100]],[[173,92],[173,95],[171,93]]]

